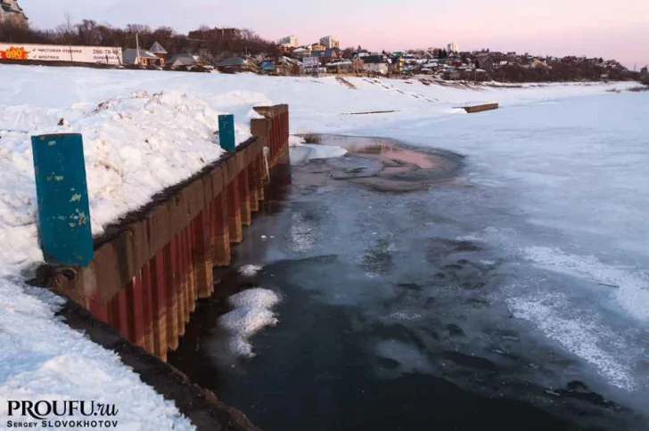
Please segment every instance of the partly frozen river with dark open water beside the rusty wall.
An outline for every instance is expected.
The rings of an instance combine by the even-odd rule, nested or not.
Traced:
[[[341,180],[373,172],[365,155],[294,167],[237,249],[263,270],[226,277],[279,293],[279,325],[252,338],[257,356],[232,361],[215,301],[172,363],[264,429],[644,429],[642,101],[605,94],[391,128],[430,157],[426,146],[466,156],[426,191]]]

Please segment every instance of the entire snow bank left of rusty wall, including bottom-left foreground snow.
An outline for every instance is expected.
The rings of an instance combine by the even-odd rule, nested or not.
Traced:
[[[114,403],[119,427],[193,429],[173,402],[144,385],[116,354],[54,318],[62,299],[27,287],[23,273],[43,260],[37,245],[37,199],[30,136],[84,135],[86,173],[94,234],[144,205],[153,194],[193,175],[223,151],[215,139],[218,114],[235,112],[237,142],[250,137],[251,110],[272,103],[248,93],[213,95],[158,91],[111,94],[68,101],[73,85],[62,69],[19,68],[56,76],[61,88],[44,88],[47,77],[0,100],[0,401],[80,399]],[[6,69],[3,68],[3,73]],[[37,72],[37,73],[34,73]],[[90,69],[84,71],[93,76]],[[24,74],[24,75],[23,75]],[[119,83],[119,75],[114,76]],[[118,85],[119,86],[119,85]],[[41,87],[37,93],[34,90]],[[101,85],[78,85],[92,94]],[[104,87],[105,88],[105,87]],[[240,96],[237,98],[237,96]],[[36,102],[36,103],[35,103]],[[5,104],[2,104],[5,103]],[[228,107],[228,103],[230,106]],[[229,109],[228,109],[229,108]],[[4,411],[0,411],[0,417]]]

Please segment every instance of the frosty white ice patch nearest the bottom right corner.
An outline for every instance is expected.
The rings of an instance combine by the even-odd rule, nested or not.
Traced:
[[[532,321],[546,337],[592,364],[612,385],[628,391],[636,387],[623,356],[628,346],[587,316],[575,315],[565,297],[518,297],[506,299],[505,303],[515,317]]]

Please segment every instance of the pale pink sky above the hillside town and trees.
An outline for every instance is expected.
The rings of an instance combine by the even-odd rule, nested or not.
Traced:
[[[456,42],[462,50],[615,58],[649,63],[647,0],[19,0],[31,24],[54,28],[63,13],[115,26],[252,28],[267,39],[300,44],[333,35],[341,46],[372,50]]]

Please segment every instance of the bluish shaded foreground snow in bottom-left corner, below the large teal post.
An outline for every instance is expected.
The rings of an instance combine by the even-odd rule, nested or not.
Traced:
[[[63,302],[44,289],[0,279],[0,418],[8,400],[94,400],[115,405],[118,429],[194,429],[117,354],[56,320]]]

